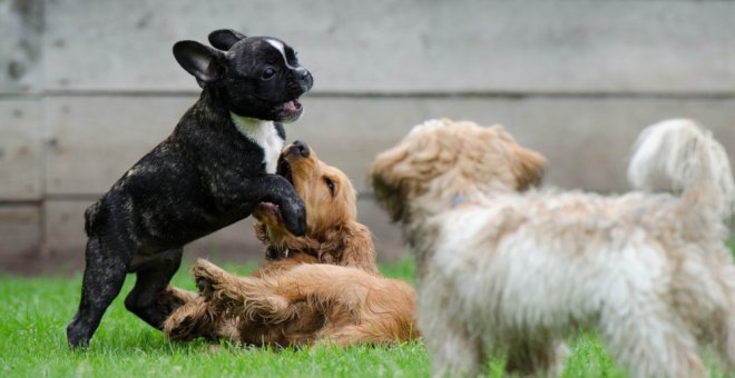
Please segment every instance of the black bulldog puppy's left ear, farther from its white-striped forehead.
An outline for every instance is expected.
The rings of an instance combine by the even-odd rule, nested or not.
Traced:
[[[176,61],[196,78],[199,87],[217,79],[222,54],[222,51],[195,41],[178,41],[174,44]]]

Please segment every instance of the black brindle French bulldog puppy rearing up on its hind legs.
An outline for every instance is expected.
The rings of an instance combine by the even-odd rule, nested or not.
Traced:
[[[306,231],[304,205],[274,175],[298,98],[312,88],[296,53],[272,37],[233,30],[209,34],[216,49],[174,44],[178,63],[203,88],[174,132],[133,166],[85,212],[88,236],[79,310],[67,327],[71,347],[86,347],[129,272],[125,306],[160,328],[173,308],[156,306],[182,261],[182,247],[275,203],[292,233]]]

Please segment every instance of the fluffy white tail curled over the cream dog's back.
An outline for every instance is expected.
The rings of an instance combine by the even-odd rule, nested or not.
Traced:
[[[628,167],[636,189],[680,195],[705,213],[724,220],[735,210],[735,185],[727,152],[712,132],[688,119],[647,127]]]

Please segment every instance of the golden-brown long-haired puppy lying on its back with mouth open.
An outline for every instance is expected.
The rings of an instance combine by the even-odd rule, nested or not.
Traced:
[[[415,294],[408,284],[379,275],[347,177],[302,142],[284,149],[277,172],[305,203],[306,235],[290,235],[275,205],[258,206],[255,228],[268,246],[268,263],[251,277],[237,277],[199,260],[193,272],[200,296],[169,289],[185,305],[165,321],[165,334],[174,340],[224,338],[256,346],[391,344],[416,337]]]

